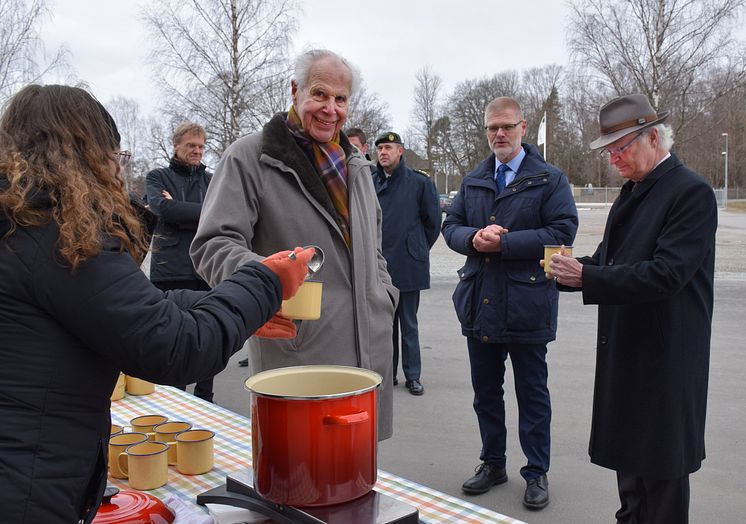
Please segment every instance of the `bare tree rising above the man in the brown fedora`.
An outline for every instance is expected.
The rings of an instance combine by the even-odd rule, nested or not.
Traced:
[[[677,131],[746,81],[733,38],[744,0],[574,0],[569,47],[613,96],[640,92]],[[720,75],[714,84],[715,71]]]

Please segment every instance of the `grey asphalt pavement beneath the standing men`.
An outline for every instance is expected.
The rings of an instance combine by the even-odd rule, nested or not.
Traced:
[[[606,214],[606,209],[580,210],[576,256],[594,251]],[[746,497],[736,475],[746,470],[746,214],[721,211],[717,249],[707,459],[691,476],[692,524],[746,521]],[[525,483],[519,470],[525,458],[510,367],[505,383],[509,480],[484,495],[461,492],[461,483],[479,464],[480,450],[466,342],[451,303],[463,260],[442,237],[433,248],[432,285],[422,293],[419,312],[425,394],[410,395],[403,380],[395,388],[394,436],[380,443],[379,467],[532,524],[613,522],[619,506],[615,474],[588,459],[596,307],[584,306],[579,293],[561,294],[557,340],[548,352],[553,408],[549,506],[536,512],[521,503]],[[216,377],[215,399],[249,416],[249,394],[243,388],[248,371],[238,367],[244,356],[234,355]]]

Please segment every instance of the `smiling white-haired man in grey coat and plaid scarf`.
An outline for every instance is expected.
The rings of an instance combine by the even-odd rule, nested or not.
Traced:
[[[340,364],[383,377],[379,439],[392,432],[392,326],[398,291],[381,254],[381,210],[369,162],[342,127],[357,70],[327,50],[298,57],[293,105],[233,143],[205,198],[191,256],[211,285],[275,246],[317,245],[325,254],[321,318],[293,339],[252,337],[252,373]]]

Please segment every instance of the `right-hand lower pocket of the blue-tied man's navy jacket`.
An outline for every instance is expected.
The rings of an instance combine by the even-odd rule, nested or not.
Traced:
[[[537,265],[538,267],[538,265]],[[550,328],[552,302],[550,285],[538,271],[508,272],[505,326],[508,331],[539,331]]]

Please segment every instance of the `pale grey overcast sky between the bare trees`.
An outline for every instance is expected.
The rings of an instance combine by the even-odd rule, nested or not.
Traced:
[[[426,64],[450,93],[463,80],[567,62],[568,9],[560,0],[299,3],[304,13],[294,50],[325,47],[348,58],[368,91],[388,103],[402,133],[410,125],[415,73]],[[77,78],[97,98],[122,95],[136,99],[144,114],[155,109],[145,61],[149,41],[134,3],[56,0],[52,11],[42,29],[47,48],[67,46]]]

